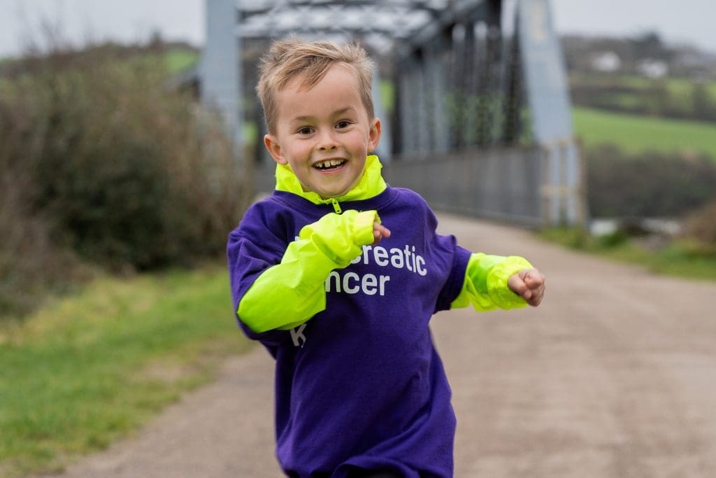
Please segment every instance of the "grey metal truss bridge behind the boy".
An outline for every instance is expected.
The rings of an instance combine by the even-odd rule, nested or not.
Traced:
[[[274,186],[256,62],[271,39],[358,40],[377,63],[377,151],[438,210],[525,226],[585,220],[569,87],[548,0],[205,0],[203,101],[240,173]]]

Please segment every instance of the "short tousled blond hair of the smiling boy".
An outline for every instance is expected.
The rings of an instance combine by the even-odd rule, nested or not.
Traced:
[[[278,40],[261,57],[256,92],[263,106],[263,117],[269,133],[276,133],[276,94],[295,77],[301,77],[299,88],[310,90],[334,64],[344,64],[358,80],[359,95],[368,119],[375,116],[371,92],[373,62],[357,43],[338,45],[333,42],[306,42],[298,38]]]

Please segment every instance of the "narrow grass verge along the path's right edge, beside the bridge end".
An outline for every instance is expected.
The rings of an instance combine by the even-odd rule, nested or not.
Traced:
[[[621,232],[594,237],[579,228],[562,227],[544,229],[538,236],[571,249],[641,265],[657,274],[716,280],[716,252],[687,241],[674,240],[654,247]]]

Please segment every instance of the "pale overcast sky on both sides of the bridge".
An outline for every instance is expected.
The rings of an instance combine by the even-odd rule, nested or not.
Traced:
[[[158,30],[165,39],[204,39],[205,0],[0,0],[0,57],[19,54],[42,39],[49,19],[75,44],[87,38],[145,40]],[[561,33],[634,35],[656,31],[669,42],[688,42],[716,52],[715,0],[551,0]]]

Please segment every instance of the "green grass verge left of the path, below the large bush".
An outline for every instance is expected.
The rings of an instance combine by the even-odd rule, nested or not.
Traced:
[[[248,350],[223,268],[105,278],[0,328],[0,475],[57,472]]]

